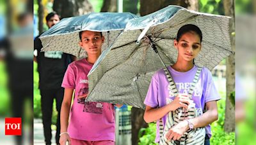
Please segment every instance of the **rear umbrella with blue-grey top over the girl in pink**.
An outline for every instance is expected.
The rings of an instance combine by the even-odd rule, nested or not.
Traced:
[[[124,31],[127,22],[136,17],[138,16],[132,13],[89,13],[63,18],[40,36],[42,52],[61,51],[78,58],[86,57],[86,51],[78,45],[79,32],[85,30],[102,32],[105,36],[105,43],[102,45],[104,51]]]

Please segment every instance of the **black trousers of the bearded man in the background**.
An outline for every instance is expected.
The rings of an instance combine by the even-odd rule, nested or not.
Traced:
[[[63,100],[64,95],[64,88],[58,88],[58,89],[40,89],[41,94],[41,109],[42,109],[42,120],[44,125],[44,137],[45,137],[45,143],[51,144],[51,138],[52,138],[52,130],[51,130],[51,124],[52,124],[52,104],[53,100],[56,99],[56,110],[58,111],[58,118],[57,118],[57,130],[56,130],[56,144],[60,144],[60,109],[61,109],[61,103]]]

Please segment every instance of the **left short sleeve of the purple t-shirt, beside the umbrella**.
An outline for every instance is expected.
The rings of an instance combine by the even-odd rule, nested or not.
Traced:
[[[144,104],[150,107],[157,107],[159,106],[157,98],[158,98],[158,77],[156,73],[152,76],[152,80],[148,87],[148,92],[144,100]]]

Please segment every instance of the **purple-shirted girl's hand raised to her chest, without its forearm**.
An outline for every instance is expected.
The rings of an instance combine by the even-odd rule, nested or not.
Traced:
[[[176,110],[178,107],[185,107],[188,109],[189,105],[189,99],[188,95],[182,95],[179,94],[175,97],[175,99],[169,104],[169,106],[172,106],[174,110]]]

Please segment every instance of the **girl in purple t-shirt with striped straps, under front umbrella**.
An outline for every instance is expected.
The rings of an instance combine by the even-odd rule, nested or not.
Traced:
[[[177,62],[173,66],[167,67],[170,72],[179,95],[174,95],[170,81],[166,78],[166,72],[163,69],[157,71],[152,76],[152,81],[148,88],[148,93],[144,104],[146,105],[144,120],[147,123],[157,121],[156,142],[161,140],[161,127],[159,123],[163,121],[163,128],[168,121],[168,113],[174,112],[179,108],[188,109],[194,106],[198,116],[195,118],[185,118],[173,125],[166,134],[163,134],[169,141],[180,141],[180,137],[190,130],[205,128],[205,142],[209,144],[211,137],[210,123],[218,120],[217,100],[220,99],[218,91],[212,81],[211,72],[203,67],[198,76],[198,81],[191,95],[188,98],[189,88],[193,86],[197,66],[193,59],[198,55],[202,47],[202,32],[196,25],[184,25],[180,27],[177,33],[177,39],[174,40],[174,46],[178,50]],[[171,100],[168,104],[166,101]],[[204,112],[204,110],[207,110]],[[204,112],[204,113],[203,113]],[[160,123],[161,124],[161,123]],[[161,125],[160,125],[161,126]]]

